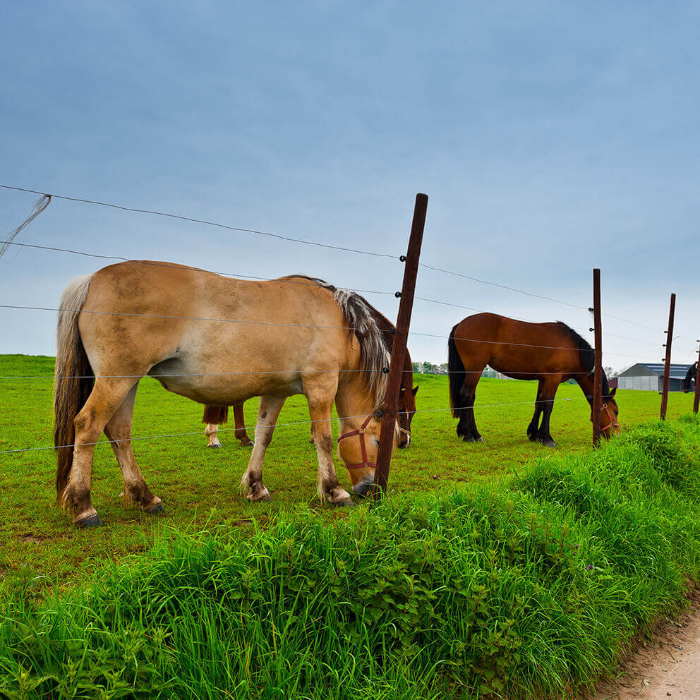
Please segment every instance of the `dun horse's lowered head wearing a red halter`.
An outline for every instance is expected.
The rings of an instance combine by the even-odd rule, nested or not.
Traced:
[[[382,419],[379,414],[370,414],[361,425],[351,430],[346,429],[350,427],[348,423],[350,421],[344,421],[341,425],[342,434],[338,438],[338,452],[350,474],[352,490],[358,495],[365,496],[374,483]],[[397,447],[400,434],[397,420],[394,423],[392,454]]]

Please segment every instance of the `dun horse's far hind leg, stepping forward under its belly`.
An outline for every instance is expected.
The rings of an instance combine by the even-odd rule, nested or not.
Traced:
[[[112,441],[111,449],[124,479],[124,504],[135,503],[144,512],[155,514],[163,511],[163,504],[147,487],[131,449],[131,419],[137,388],[138,385],[134,385],[128,392],[126,399],[104,426],[104,434]]]

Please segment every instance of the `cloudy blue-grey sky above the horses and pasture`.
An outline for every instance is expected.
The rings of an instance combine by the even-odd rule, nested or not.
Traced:
[[[0,183],[399,255],[591,303],[604,362],[700,337],[700,5],[59,1],[0,10]],[[0,189],[0,238],[36,195]],[[399,289],[402,265],[54,200],[18,239],[230,274]],[[56,306],[109,260],[13,248],[0,303]],[[585,310],[426,268],[418,296],[586,330]],[[390,295],[368,295],[395,316]],[[414,359],[471,310],[416,301]],[[617,320],[611,315],[627,319]],[[1,353],[53,354],[54,313],[0,308]],[[632,322],[628,322],[632,321]],[[586,333],[586,337],[590,334]]]

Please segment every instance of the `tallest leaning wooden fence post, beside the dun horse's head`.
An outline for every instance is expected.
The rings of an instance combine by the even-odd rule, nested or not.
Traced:
[[[421,257],[421,243],[423,242],[423,229],[426,225],[426,212],[428,211],[428,195],[417,194],[414,207],[414,220],[411,224],[411,238],[409,250],[402,255],[405,261],[404,284],[401,288],[401,302],[399,314],[396,320],[396,332],[392,346],[392,358],[389,364],[389,377],[387,379],[387,393],[384,399],[384,413],[382,414],[382,430],[379,438],[379,451],[377,453],[377,469],[374,478],[374,499],[380,500],[382,493],[387,490],[389,481],[389,465],[392,459],[392,447],[394,445],[394,426],[396,423],[396,410],[401,390],[402,374],[404,372],[404,357],[406,356],[406,343],[409,338],[409,325],[411,323],[411,309],[414,306],[414,291],[416,290],[416,275],[418,274],[418,260]]]

